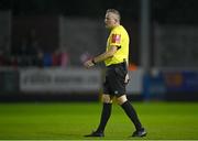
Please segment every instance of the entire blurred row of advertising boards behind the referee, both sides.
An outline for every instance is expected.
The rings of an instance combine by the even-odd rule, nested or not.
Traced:
[[[130,100],[198,100],[198,70],[130,72]],[[97,101],[103,69],[1,68],[0,101]]]

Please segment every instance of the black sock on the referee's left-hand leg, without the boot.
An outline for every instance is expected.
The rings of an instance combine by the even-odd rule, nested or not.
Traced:
[[[100,118],[100,124],[97,129],[97,132],[103,132],[106,124],[111,116],[111,107],[112,104],[103,104],[102,112],[101,112],[101,118]]]

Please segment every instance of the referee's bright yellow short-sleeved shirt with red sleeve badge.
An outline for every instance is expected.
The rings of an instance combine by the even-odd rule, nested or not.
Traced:
[[[110,50],[111,46],[118,46],[118,51],[112,57],[105,61],[106,66],[122,63],[124,59],[128,63],[129,42],[129,34],[122,25],[111,30],[107,41],[107,51]]]

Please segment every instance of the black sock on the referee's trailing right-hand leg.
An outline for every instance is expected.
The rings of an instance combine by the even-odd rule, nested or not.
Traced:
[[[124,104],[121,105],[128,117],[131,119],[131,121],[134,123],[136,130],[142,130],[142,124],[139,120],[139,117],[136,115],[135,109],[133,106],[130,104],[130,101],[125,101]]]

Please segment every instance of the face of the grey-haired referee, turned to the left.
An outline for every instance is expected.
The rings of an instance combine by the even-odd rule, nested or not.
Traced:
[[[106,13],[105,23],[107,29],[112,29],[117,23],[116,14],[111,12]]]

